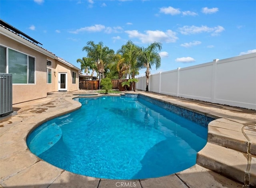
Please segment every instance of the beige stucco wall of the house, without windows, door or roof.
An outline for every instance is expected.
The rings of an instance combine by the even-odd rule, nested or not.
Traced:
[[[67,73],[67,91],[78,90],[78,70],[67,66],[66,64],[54,59],[54,55],[49,56],[45,53],[38,52],[20,42],[12,40],[0,34],[0,45],[7,48],[22,52],[35,58],[35,84],[13,84],[12,85],[12,102],[20,102],[44,98],[48,92],[58,91],[58,72]],[[47,60],[52,61],[52,83],[47,84]],[[76,84],[72,84],[72,72],[76,72]],[[55,73],[54,73],[55,72]]]

